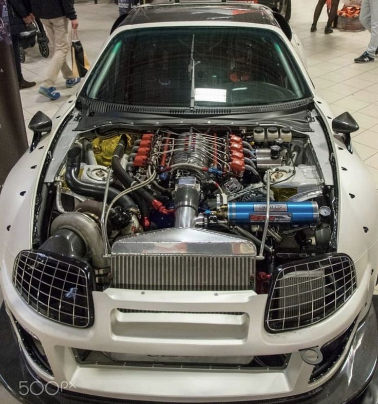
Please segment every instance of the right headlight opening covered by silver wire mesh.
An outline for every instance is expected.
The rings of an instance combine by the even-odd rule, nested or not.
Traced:
[[[269,293],[266,328],[279,332],[306,327],[338,310],[356,289],[352,260],[318,255],[277,268]]]

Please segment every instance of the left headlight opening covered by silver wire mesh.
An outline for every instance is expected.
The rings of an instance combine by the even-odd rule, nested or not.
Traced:
[[[58,254],[24,250],[17,255],[13,285],[37,313],[74,327],[93,323],[90,267]]]

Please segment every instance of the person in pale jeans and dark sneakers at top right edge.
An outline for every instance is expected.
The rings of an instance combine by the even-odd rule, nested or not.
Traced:
[[[370,32],[367,50],[354,59],[356,63],[374,62],[378,54],[378,0],[363,0],[360,14],[361,24]]]

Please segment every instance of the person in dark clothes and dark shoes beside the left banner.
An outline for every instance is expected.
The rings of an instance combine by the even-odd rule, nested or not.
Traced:
[[[18,34],[25,31],[25,24],[31,24],[34,21],[34,17],[30,14],[30,9],[27,8],[27,5],[23,0],[7,0],[7,5],[14,60],[16,62],[18,87],[20,87],[21,90],[23,88],[35,86],[35,81],[26,81],[22,75],[20,43],[18,40]]]

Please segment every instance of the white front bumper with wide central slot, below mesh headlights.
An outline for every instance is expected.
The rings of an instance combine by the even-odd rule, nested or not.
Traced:
[[[25,356],[32,372],[41,379],[59,385],[74,382],[76,393],[104,398],[197,403],[280,402],[287,397],[317,392],[338,372],[353,338],[349,338],[347,348],[333,365],[331,362],[331,368],[311,383],[314,367],[301,359],[300,351],[323,346],[349,329],[354,319],[357,318],[357,323],[363,319],[368,308],[361,309],[364,302],[370,301],[371,274],[363,272],[353,298],[335,315],[311,327],[279,334],[264,330],[267,295],[256,295],[253,291],[141,292],[108,288],[93,292],[94,324],[79,329],[35,313],[11,287],[8,272],[0,271],[0,278],[13,325],[16,320],[42,343],[53,376],[43,372],[29,355]],[[178,311],[172,312],[173,309]],[[213,315],[225,311],[244,314]],[[356,328],[355,323],[352,336]],[[72,348],[117,355],[211,358],[290,354],[290,359],[284,369],[160,368],[129,363],[82,363]]]

